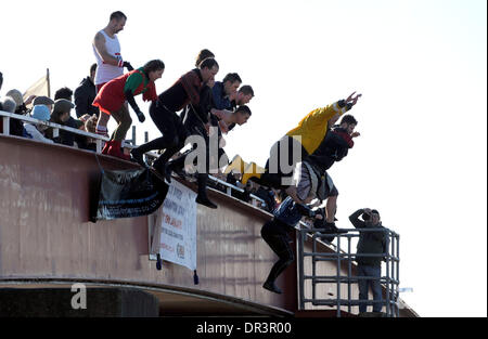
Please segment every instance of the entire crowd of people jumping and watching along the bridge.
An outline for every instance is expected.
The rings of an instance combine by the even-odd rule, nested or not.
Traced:
[[[246,162],[239,155],[229,161],[223,151],[223,136],[251,118],[248,104],[255,94],[253,88],[243,84],[237,73],[227,74],[221,81],[216,81],[219,63],[213,52],[204,49],[197,53],[193,67],[189,67],[172,86],[156,93],[155,81],[162,78],[165,64],[155,58],[133,68],[123,58],[117,34],[124,29],[126,21],[124,13],[114,12],[106,27],[95,34],[92,45],[97,63],[74,92],[62,88],[54,93],[53,100],[47,96],[24,100],[22,93],[13,89],[1,97],[0,110],[110,136],[102,154],[138,162],[167,183],[174,173],[187,177],[188,167],[194,166],[197,168],[193,174],[198,186],[196,203],[208,208],[216,209],[217,205],[207,196],[207,186],[227,191],[226,186],[208,181],[209,173],[224,182],[240,184],[244,192],[232,191],[232,195],[241,200],[249,201],[249,194],[260,197],[265,201],[261,207],[274,216],[262,226],[261,235],[279,257],[264,287],[281,294],[275,281],[294,260],[288,233],[296,224],[305,217],[314,227],[323,230],[326,242],[343,232],[335,226],[338,190],[328,170],[348,155],[354,139],[360,135],[355,132],[358,121],[346,113],[361,94],[352,93],[305,115],[271,146],[264,167]],[[0,74],[0,88],[2,80]],[[150,102],[149,116],[160,136],[124,152],[123,141],[132,125],[129,106],[139,121],[146,119],[136,102],[139,94]],[[108,134],[111,117],[117,127]],[[10,134],[95,151],[94,140],[65,130],[54,135],[53,129],[42,123],[10,119]],[[182,152],[187,145],[190,149]],[[151,151],[159,152],[154,161],[144,157]],[[194,156],[195,152],[203,153],[204,164]],[[362,220],[360,216],[363,216]],[[356,227],[382,226],[380,213],[371,209],[358,210],[350,221]],[[381,232],[361,235],[359,249],[381,253],[386,240]],[[363,275],[377,277],[381,274],[381,260],[358,259],[358,263]],[[375,299],[381,298],[378,283],[371,284]],[[368,284],[361,283],[361,298],[368,298],[367,290]]]

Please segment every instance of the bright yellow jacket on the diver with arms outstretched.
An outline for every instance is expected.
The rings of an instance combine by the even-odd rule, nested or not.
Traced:
[[[339,106],[339,103],[333,103],[326,107],[317,108],[310,112],[293,130],[286,135],[299,140],[301,138],[301,145],[308,154],[312,154],[325,138],[328,132],[329,120],[338,114],[339,116],[346,113],[347,105]]]

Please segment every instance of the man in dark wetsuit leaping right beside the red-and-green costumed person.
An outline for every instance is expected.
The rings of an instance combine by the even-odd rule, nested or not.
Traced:
[[[187,116],[191,116],[191,119],[194,118],[197,120],[193,131],[198,134],[202,133],[203,135],[201,135],[205,139],[207,132],[206,130],[203,132],[202,128],[204,128],[203,126],[205,126],[207,118],[206,114],[202,110],[204,104],[201,103],[201,100],[208,96],[208,94],[205,94],[205,91],[208,91],[205,83],[213,81],[218,70],[219,65],[215,58],[206,58],[201,63],[200,68],[190,70],[178,79],[174,86],[158,95],[157,100],[150,106],[150,115],[163,136],[133,148],[131,155],[137,162],[145,166],[142,158],[144,153],[153,149],[165,149],[154,161],[153,167],[160,174],[165,175],[166,181],[170,182],[171,168],[167,166],[167,162],[172,155],[183,148],[185,139],[192,133],[183,126],[177,112],[190,105],[190,108],[195,115],[187,114]],[[198,174],[198,187],[202,188],[198,188],[196,203],[216,208],[203,188],[206,186],[204,177],[204,173]]]

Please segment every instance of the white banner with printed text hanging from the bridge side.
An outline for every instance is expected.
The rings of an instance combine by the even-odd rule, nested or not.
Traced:
[[[196,270],[196,194],[171,181],[157,216],[160,259]]]

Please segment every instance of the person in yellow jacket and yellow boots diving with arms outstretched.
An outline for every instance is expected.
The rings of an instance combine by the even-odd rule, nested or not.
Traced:
[[[311,155],[325,138],[329,129],[338,118],[352,108],[361,94],[354,92],[346,100],[339,100],[329,106],[310,112],[298,126],[288,131],[270,151],[266,168],[255,162],[245,162],[236,155],[224,173],[237,170],[242,173],[241,182],[248,180],[273,188],[287,188],[291,185],[293,169],[301,159]],[[284,155],[284,156],[282,156]]]

